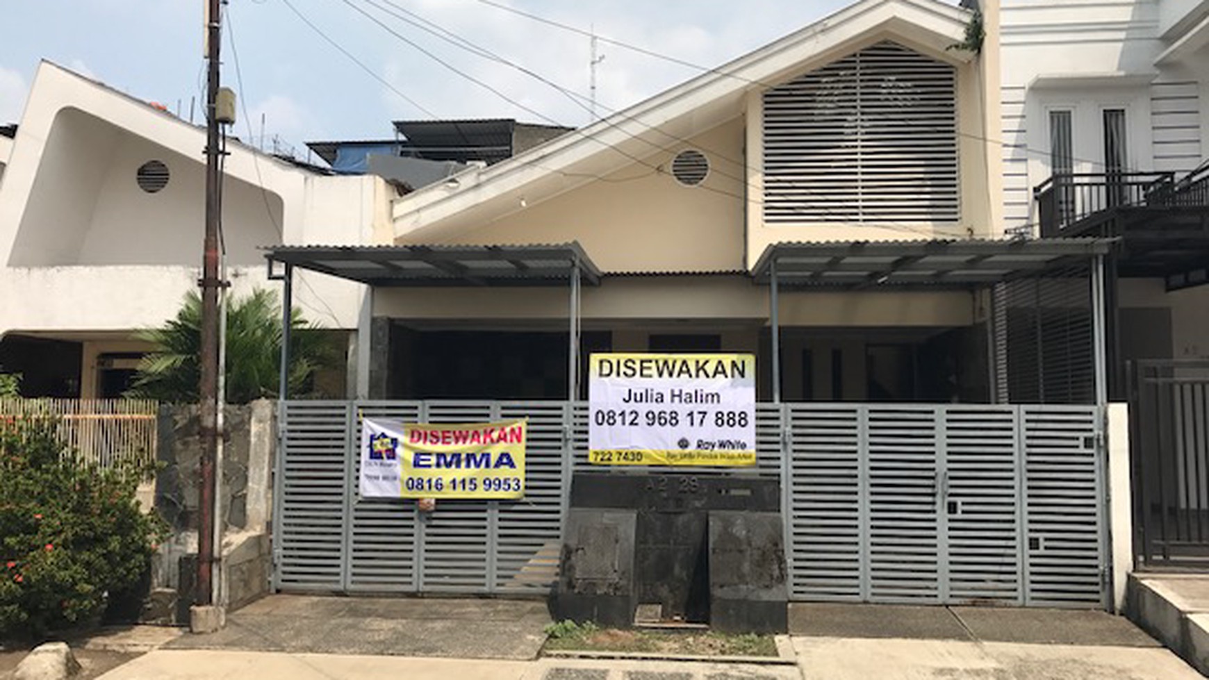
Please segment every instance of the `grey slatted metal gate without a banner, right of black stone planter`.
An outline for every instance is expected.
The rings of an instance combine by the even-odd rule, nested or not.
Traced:
[[[1097,408],[785,409],[792,599],[1105,604]]]

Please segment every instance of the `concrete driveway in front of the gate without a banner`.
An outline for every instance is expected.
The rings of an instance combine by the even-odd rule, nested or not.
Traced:
[[[789,629],[805,680],[1202,680],[1103,611],[799,604]]]

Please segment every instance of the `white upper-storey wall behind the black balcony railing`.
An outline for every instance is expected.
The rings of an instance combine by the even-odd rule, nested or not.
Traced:
[[[1186,173],[1201,162],[1209,140],[1203,105],[1209,52],[1161,57],[1182,36],[1163,31],[1207,5],[1003,0],[1001,138],[1008,228],[1036,222],[1032,190],[1051,174],[1053,109],[1072,111],[1076,173],[1103,172],[1105,107],[1126,109],[1130,168]]]

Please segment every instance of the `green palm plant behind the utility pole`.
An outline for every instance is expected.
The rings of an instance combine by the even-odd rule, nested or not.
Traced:
[[[272,291],[255,290],[227,303],[226,401],[247,403],[276,397],[282,351],[282,312]],[[139,362],[127,393],[138,399],[168,402],[196,402],[201,380],[202,300],[196,292],[185,296],[175,319],[158,329],[135,333],[155,345]],[[290,396],[305,396],[314,373],[335,359],[330,339],[299,309],[290,313]]]

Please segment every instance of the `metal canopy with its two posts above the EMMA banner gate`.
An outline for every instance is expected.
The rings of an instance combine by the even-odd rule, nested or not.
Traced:
[[[579,397],[580,290],[600,285],[601,271],[578,242],[539,245],[278,245],[265,249],[268,278],[282,286],[282,365],[278,399],[289,399],[290,309],[294,269],[369,286],[556,286],[569,289],[567,397]],[[283,265],[283,271],[274,269]]]

